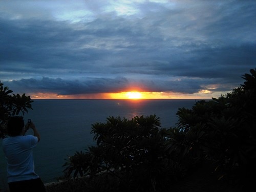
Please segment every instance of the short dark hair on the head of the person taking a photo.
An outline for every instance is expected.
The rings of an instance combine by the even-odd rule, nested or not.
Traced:
[[[18,136],[24,128],[24,120],[22,116],[10,117],[7,122],[7,130],[9,136]]]

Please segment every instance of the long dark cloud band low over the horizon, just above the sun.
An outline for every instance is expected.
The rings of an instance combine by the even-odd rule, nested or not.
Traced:
[[[23,93],[48,93],[57,95],[74,95],[89,93],[125,92],[129,88],[137,87],[138,90],[147,92],[178,92],[193,94],[202,89],[198,84],[206,83],[203,79],[179,79],[179,80],[127,80],[126,78],[84,78],[83,80],[69,80],[61,78],[42,77],[41,79],[20,79],[7,83],[9,87],[23,87]],[[210,81],[208,81],[210,83]],[[225,89],[224,89],[225,90]],[[216,91],[223,91],[219,89]]]

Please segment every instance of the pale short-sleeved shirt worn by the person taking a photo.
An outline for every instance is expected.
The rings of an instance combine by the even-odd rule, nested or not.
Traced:
[[[7,137],[3,139],[3,150],[7,159],[7,181],[37,179],[34,171],[32,148],[38,142],[32,135]]]

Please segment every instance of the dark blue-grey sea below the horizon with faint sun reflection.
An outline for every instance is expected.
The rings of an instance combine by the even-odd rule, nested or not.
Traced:
[[[25,123],[31,119],[41,140],[34,148],[35,172],[45,183],[56,181],[61,176],[69,155],[94,145],[91,125],[105,122],[109,116],[132,119],[135,116],[156,114],[161,126],[175,126],[178,108],[190,109],[194,99],[152,100],[63,100],[38,99],[32,103],[33,110],[24,115]],[[33,134],[32,130],[28,131]],[[1,142],[2,148],[2,142]],[[6,185],[6,161],[0,152],[0,188]]]

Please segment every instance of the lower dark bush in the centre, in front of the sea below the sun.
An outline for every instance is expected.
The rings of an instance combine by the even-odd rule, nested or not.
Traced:
[[[91,133],[97,146],[77,152],[64,165],[68,175],[74,172],[74,178],[78,173],[105,174],[118,180],[120,191],[155,191],[165,186],[166,180],[182,176],[183,167],[165,154],[166,139],[156,115],[131,120],[109,117],[106,123],[93,124]]]

